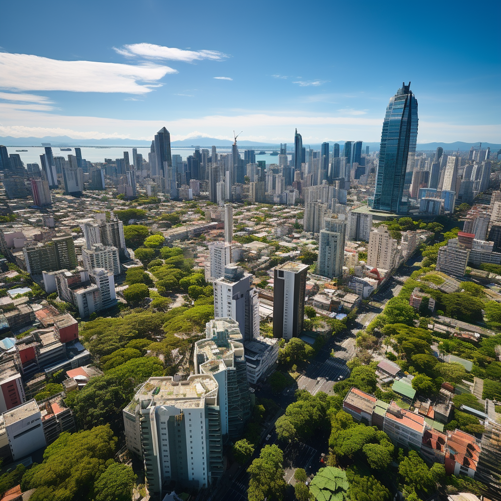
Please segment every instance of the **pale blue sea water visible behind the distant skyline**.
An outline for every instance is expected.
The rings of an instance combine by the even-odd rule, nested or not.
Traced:
[[[202,149],[202,148],[201,148]],[[210,153],[210,148],[207,148]],[[28,151],[16,151],[16,150],[28,150]],[[129,152],[129,161],[132,163],[132,148],[117,148],[115,146],[110,146],[110,147],[88,147],[88,146],[82,146],[80,148],[82,151],[82,158],[85,158],[89,162],[104,162],[105,158],[111,158],[112,160],[115,160],[115,158],[123,158],[124,157],[124,151]],[[40,165],[40,155],[43,155],[45,153],[45,149],[43,146],[22,146],[22,147],[14,147],[14,146],[7,146],[7,151],[9,154],[11,153],[18,153],[21,156],[21,160],[25,163],[38,163]],[[262,150],[255,150],[256,152],[262,151]],[[138,146],[137,147],[137,152],[141,153],[143,155],[143,159],[148,161],[148,153],[150,152],[150,147],[149,146]],[[189,155],[192,155],[194,152],[194,148],[178,148],[178,147],[172,147],[171,152],[173,155],[181,155],[183,160],[186,159]],[[231,152],[231,147],[227,148],[218,148],[217,149],[218,153],[230,153]],[[240,156],[243,158],[243,149],[239,150]],[[270,155],[271,150],[267,151],[266,154],[264,155],[256,155],[256,162],[258,160],[266,160],[267,164],[270,163],[278,163],[278,155]],[[71,151],[61,151],[59,146],[52,146],[52,154],[54,156],[63,156],[66,159],[68,158],[68,155],[74,155],[75,154],[75,148],[72,148]],[[289,159],[292,158],[292,154],[289,154]]]

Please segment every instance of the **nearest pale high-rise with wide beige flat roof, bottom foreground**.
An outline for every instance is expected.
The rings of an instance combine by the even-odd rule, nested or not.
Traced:
[[[151,494],[159,496],[171,482],[197,490],[221,477],[220,406],[212,375],[192,374],[186,381],[151,377],[123,416],[127,448],[143,458]]]

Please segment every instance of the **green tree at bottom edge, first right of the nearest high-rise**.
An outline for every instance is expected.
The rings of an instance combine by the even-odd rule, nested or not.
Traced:
[[[263,501],[265,498],[281,501],[287,488],[284,480],[284,453],[276,445],[266,445],[259,458],[247,469],[249,501]]]

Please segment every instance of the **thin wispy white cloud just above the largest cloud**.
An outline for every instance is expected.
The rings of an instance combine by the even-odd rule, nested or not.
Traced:
[[[168,59],[170,61],[184,61],[185,63],[192,63],[193,61],[200,61],[202,59],[222,61],[228,57],[226,54],[218,51],[185,51],[174,47],[163,47],[161,45],[145,43],[124,45],[122,48],[113,47],[113,49],[118,54],[126,57],[139,56],[146,59]]]

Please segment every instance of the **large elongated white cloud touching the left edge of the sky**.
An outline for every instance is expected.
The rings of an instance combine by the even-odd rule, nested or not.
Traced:
[[[168,73],[177,70],[154,64],[59,61],[0,53],[0,88],[4,89],[145,94],[161,85],[156,82]]]

